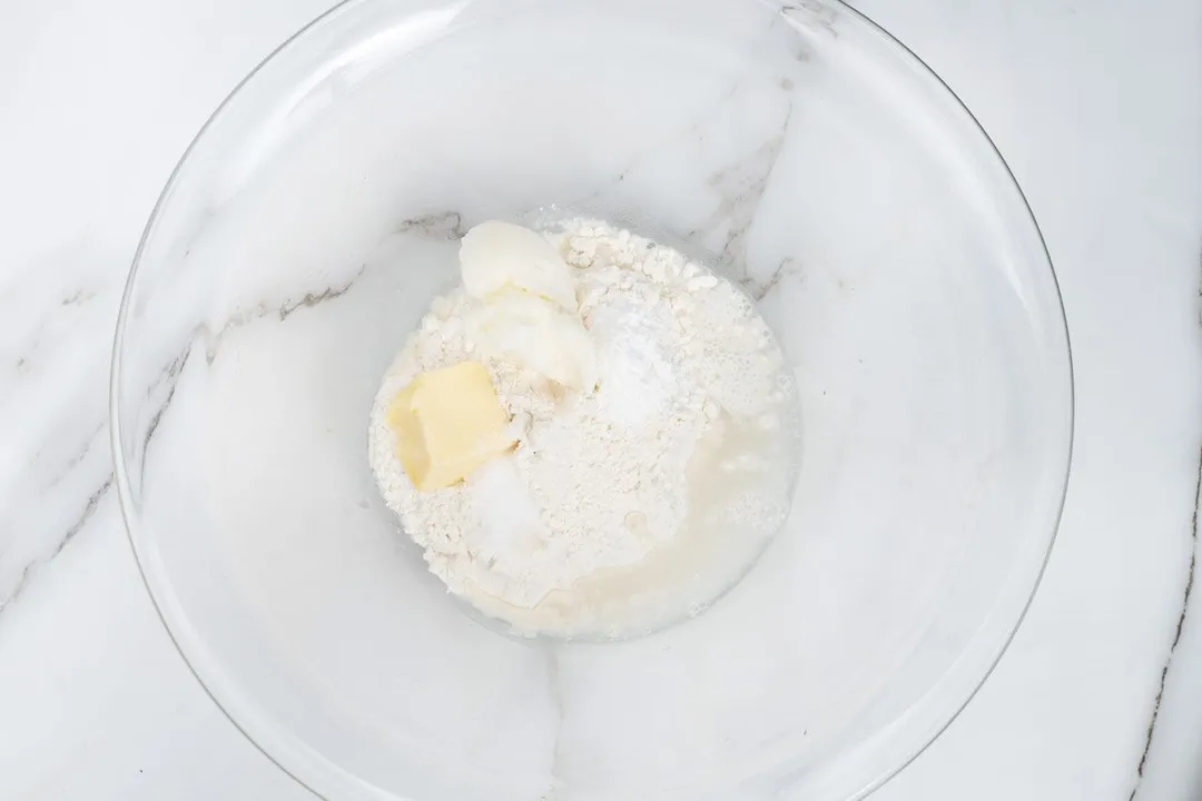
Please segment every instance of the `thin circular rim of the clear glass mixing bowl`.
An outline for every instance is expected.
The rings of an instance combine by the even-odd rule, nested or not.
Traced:
[[[163,210],[167,207],[168,199],[172,195],[172,191],[177,186],[180,174],[184,167],[188,165],[197,144],[204,138],[206,133],[213,127],[214,122],[224,114],[226,108],[234,101],[236,97],[239,96],[244,86],[246,86],[248,83],[254,80],[255,77],[262,71],[262,68],[268,62],[274,60],[281,52],[288,49],[297,40],[305,36],[310,30],[322,26],[327,20],[339,16],[340,13],[346,12],[349,8],[353,6],[368,4],[371,1],[373,0],[339,0],[339,2],[337,2],[334,6],[326,10],[320,16],[315,17],[311,22],[298,29],[291,36],[288,36],[279,46],[272,49],[266,56],[263,56],[255,65],[255,67],[250,70],[233,86],[233,89],[230,90],[230,92],[222,98],[222,101],[216,106],[216,108],[212,112],[212,114],[209,114],[204,124],[192,137],[188,148],[185,148],[184,153],[179,157],[179,161],[172,169],[172,173],[167,179],[167,183],[163,185],[163,189],[160,192],[157,199],[155,201],[154,208],[150,213],[150,216],[147,220],[147,223],[142,231],[142,235],[138,240],[138,245],[130,265],[130,271],[125,281],[125,287],[121,292],[120,309],[117,316],[117,324],[112,346],[113,351],[109,363],[109,388],[108,388],[109,446],[113,460],[114,480],[118,490],[117,492],[118,501],[121,512],[121,519],[126,531],[126,537],[133,550],[135,561],[138,567],[138,575],[141,576],[142,584],[147,590],[147,594],[150,597],[150,602],[155,609],[155,614],[159,616],[159,620],[162,623],[163,629],[166,630],[173,647],[179,653],[184,664],[188,666],[188,670],[192,674],[197,683],[201,686],[204,693],[213,700],[216,707],[221,710],[221,713],[226,717],[226,719],[228,719],[230,723],[232,723],[233,727],[260,753],[262,753],[285,775],[296,781],[300,787],[313,793],[316,797],[325,799],[326,801],[333,801],[333,799],[331,799],[328,795],[323,795],[321,790],[314,787],[313,782],[302,778],[299,771],[285,764],[285,761],[287,760],[272,753],[268,749],[268,747],[260,741],[260,739],[257,739],[250,733],[249,730],[250,727],[244,724],[238,718],[238,716],[231,711],[230,709],[231,704],[227,700],[222,700],[221,698],[219,698],[219,693],[214,691],[214,688],[210,686],[213,682],[206,681],[206,679],[201,675],[202,671],[196,665],[198,654],[189,653],[190,648],[186,648],[182,644],[183,633],[179,630],[179,628],[177,628],[177,626],[174,626],[168,620],[171,615],[165,609],[168,599],[160,596],[160,593],[156,591],[155,581],[150,578],[145,563],[148,555],[143,551],[142,546],[138,543],[138,538],[135,534],[135,526],[137,525],[138,515],[137,512],[135,510],[136,507],[135,492],[130,485],[130,478],[125,470],[126,454],[125,449],[121,446],[119,387],[121,376],[121,351],[125,342],[125,334],[129,318],[131,315],[131,300],[133,297],[135,285],[137,283],[138,268],[143,262],[147,245],[151,239],[156,223],[162,216]],[[739,0],[739,1],[748,2],[749,5],[766,6],[775,13],[780,13],[781,11],[791,8],[790,4],[781,2],[778,0]],[[912,66],[917,67],[920,74],[924,76],[927,79],[933,79],[935,82],[934,85],[942,90],[946,97],[953,102],[954,107],[959,108],[959,110],[965,115],[966,120],[971,124],[971,127],[976,128],[976,132],[980,135],[983,143],[988,145],[988,151],[992,151],[993,156],[996,159],[998,165],[1002,168],[1002,175],[1005,177],[1005,179],[1008,179],[1011,189],[1017,193],[1017,198],[1022,203],[1020,208],[1025,213],[1027,221],[1031,226],[1031,231],[1034,232],[1035,238],[1039,243],[1039,249],[1042,252],[1042,257],[1047,263],[1048,275],[1052,280],[1051,286],[1054,292],[1054,300],[1055,300],[1054,310],[1059,311],[1058,316],[1059,328],[1053,331],[1053,335],[1057,335],[1057,339],[1060,340],[1060,342],[1063,343],[1064,358],[1067,367],[1065,376],[1067,383],[1066,387],[1064,388],[1066,390],[1066,401],[1067,401],[1067,408],[1064,410],[1066,414],[1066,442],[1063,443],[1064,467],[1063,467],[1063,473],[1060,476],[1059,498],[1057,502],[1055,513],[1054,515],[1052,515],[1052,520],[1049,521],[1051,531],[1047,534],[1047,545],[1046,548],[1043,548],[1042,557],[1040,558],[1037,569],[1035,570],[1034,580],[1031,581],[1030,587],[1025,593],[1025,599],[1022,602],[1017,615],[1014,615],[1013,620],[1010,621],[1008,624],[1006,626],[1006,632],[1004,636],[1001,636],[994,645],[993,653],[990,653],[987,657],[986,669],[981,671],[980,675],[971,679],[971,685],[972,685],[971,689],[964,694],[963,699],[954,701],[952,704],[952,711],[950,715],[946,715],[946,719],[938,722],[933,730],[917,737],[916,742],[906,749],[906,753],[904,753],[900,759],[895,759],[893,764],[891,764],[885,770],[879,771],[877,775],[868,779],[862,788],[853,791],[852,795],[847,796],[847,801],[858,801],[873,794],[882,785],[885,785],[887,782],[889,782],[893,777],[895,777],[898,773],[900,773],[915,759],[917,759],[923,752],[926,752],[947,730],[947,728],[960,716],[964,709],[972,701],[976,694],[981,691],[981,687],[983,687],[984,683],[993,675],[999,662],[1001,660],[1001,657],[1008,650],[1010,644],[1013,641],[1014,635],[1017,634],[1019,627],[1025,620],[1027,614],[1030,610],[1031,602],[1034,600],[1036,593],[1039,592],[1039,587],[1047,570],[1048,560],[1051,558],[1052,549],[1055,544],[1055,539],[1060,528],[1060,522],[1064,516],[1064,506],[1069,489],[1069,479],[1072,468],[1072,455],[1073,455],[1073,447],[1076,438],[1076,377],[1075,377],[1075,367],[1072,359],[1071,337],[1069,333],[1067,318],[1064,307],[1064,297],[1060,289],[1060,281],[1059,277],[1057,276],[1052,256],[1047,249],[1047,241],[1043,237],[1043,232],[1040,228],[1039,221],[1035,217],[1035,214],[1031,209],[1030,202],[1027,198],[1025,192],[1023,192],[1022,186],[1019,185],[1017,178],[1014,177],[1014,173],[1011,169],[1005,156],[1002,156],[1001,151],[999,150],[996,143],[994,143],[993,138],[984,130],[984,126],[981,124],[977,116],[964,103],[964,101],[959,97],[959,95],[957,95],[956,91],[947,84],[947,82],[945,82],[942,77],[938,72],[935,72],[934,68],[930,67],[930,65],[928,65],[918,54],[911,50],[904,42],[902,42],[899,38],[889,34],[883,26],[879,25],[867,13],[850,6],[847,4],[847,0],[817,0],[817,4],[826,5],[828,7],[834,7],[839,11],[839,13],[850,14],[851,17],[856,18],[859,24],[865,25],[868,30],[879,36],[886,46],[895,48],[904,60],[910,61]],[[810,4],[803,2],[802,5],[809,6]],[[980,633],[976,634],[972,638],[972,640],[970,640],[970,642],[977,640],[980,636],[981,636]],[[965,648],[965,651],[968,651],[968,648]],[[952,668],[948,668],[948,673],[951,673],[954,665],[956,663],[952,664]],[[945,677],[946,675],[948,674],[945,674]],[[899,717],[898,721],[904,719],[906,716],[909,716],[910,712],[912,712],[918,706],[929,703],[930,695],[934,693],[935,688],[938,688],[938,685],[932,687],[922,697],[920,697],[920,699],[915,701],[915,704],[911,707],[909,707],[909,710],[905,713],[903,713],[903,716]],[[894,722],[894,724],[897,721]],[[345,771],[340,766],[334,765],[333,763],[331,763],[331,765],[339,772],[345,773]],[[364,789],[374,791],[373,797],[380,797],[380,799],[387,797],[394,801],[404,801],[398,796],[394,796],[389,791],[381,790],[380,788],[375,788],[374,785],[367,785],[363,779],[358,779],[358,777],[352,777],[352,778],[355,779],[355,783],[359,784],[361,787],[364,787]]]

